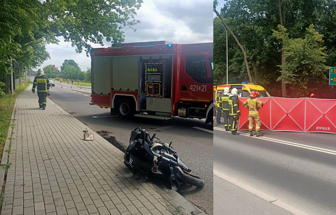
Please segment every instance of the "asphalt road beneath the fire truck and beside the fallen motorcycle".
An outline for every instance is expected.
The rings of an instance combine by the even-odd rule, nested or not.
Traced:
[[[65,85],[64,85],[65,86]],[[74,88],[74,86],[73,86]],[[87,89],[85,89],[87,90]],[[88,129],[109,131],[121,144],[128,145],[130,132],[136,127],[146,129],[151,135],[155,132],[164,142],[173,142],[184,163],[195,175],[205,180],[201,189],[186,188],[181,194],[190,202],[213,214],[213,134],[211,124],[205,120],[175,117],[171,121],[138,118],[123,119],[110,116],[110,109],[89,105],[90,94],[61,88],[59,84],[50,89],[50,97],[62,109],[73,113]],[[48,105],[47,105],[48,108]],[[193,127],[203,128],[210,132]]]

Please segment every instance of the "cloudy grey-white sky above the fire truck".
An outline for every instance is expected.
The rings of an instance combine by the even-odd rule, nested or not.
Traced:
[[[149,12],[150,11],[150,12]],[[166,40],[173,43],[213,41],[213,0],[143,0],[136,19],[141,23],[136,31],[125,28],[125,43]],[[65,59],[73,59],[81,70],[90,67],[85,53],[76,53],[75,47],[62,38],[57,44],[47,45],[51,59],[41,67],[53,64],[60,68]],[[91,44],[93,47],[101,47]],[[105,43],[105,47],[111,46]]]

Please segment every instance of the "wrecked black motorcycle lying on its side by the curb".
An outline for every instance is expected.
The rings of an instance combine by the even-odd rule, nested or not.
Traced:
[[[150,137],[145,129],[136,128],[131,132],[124,164],[130,170],[167,179],[169,186],[175,190],[179,189],[181,183],[204,186],[204,180],[193,175],[176,154],[172,142],[163,143],[156,134]]]

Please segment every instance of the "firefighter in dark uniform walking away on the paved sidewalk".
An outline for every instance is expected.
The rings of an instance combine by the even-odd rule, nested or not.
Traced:
[[[38,75],[35,77],[33,82],[32,92],[35,93],[35,88],[37,87],[37,96],[39,97],[39,108],[45,110],[47,105],[47,94],[49,91],[50,83],[48,77],[44,74],[43,69],[38,70]]]

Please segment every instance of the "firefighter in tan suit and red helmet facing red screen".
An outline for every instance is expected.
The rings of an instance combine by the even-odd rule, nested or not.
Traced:
[[[250,94],[250,98],[244,102],[244,107],[249,109],[249,131],[250,136],[253,136],[252,130],[253,130],[253,119],[255,120],[255,131],[257,132],[257,137],[261,137],[262,134],[260,134],[260,116],[259,116],[259,108],[262,108],[263,104],[262,101],[257,99],[258,92],[252,91]]]

